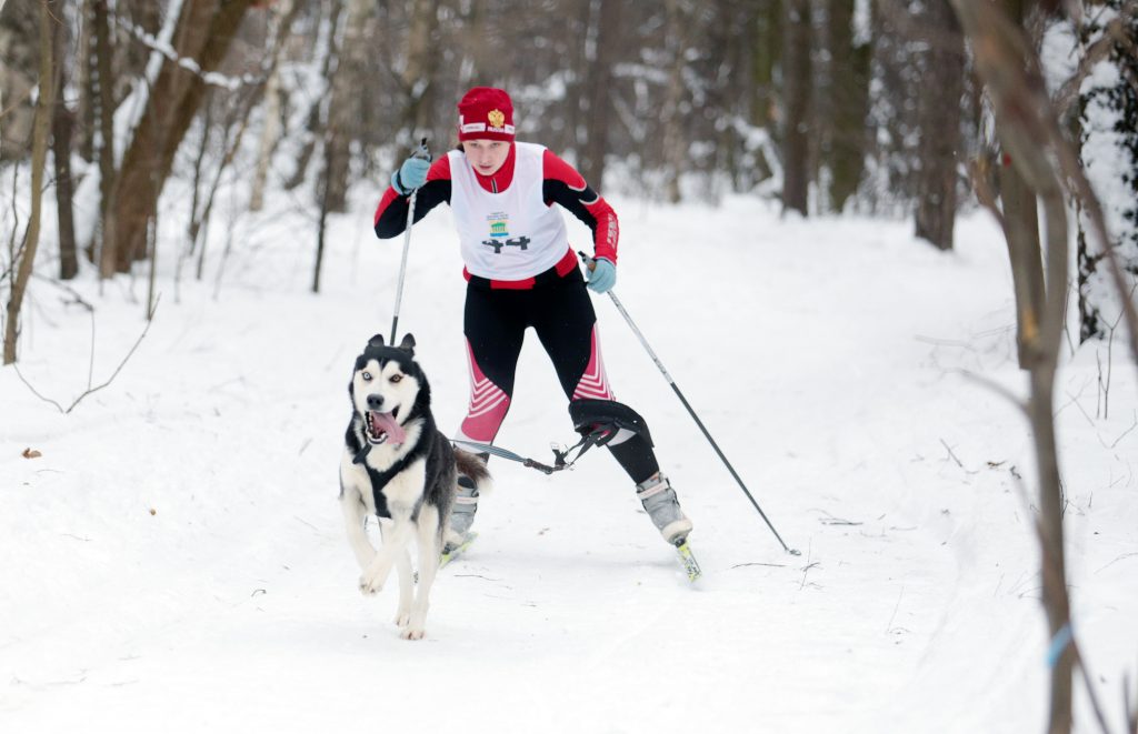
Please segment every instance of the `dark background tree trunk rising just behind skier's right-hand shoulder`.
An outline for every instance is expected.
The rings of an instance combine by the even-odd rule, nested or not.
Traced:
[[[585,115],[587,137],[580,156],[580,174],[595,191],[602,190],[604,178],[604,155],[609,149],[609,128],[612,124],[612,64],[617,56],[620,32],[620,1],[597,0],[595,58],[588,62],[585,78],[585,95],[588,100]]]

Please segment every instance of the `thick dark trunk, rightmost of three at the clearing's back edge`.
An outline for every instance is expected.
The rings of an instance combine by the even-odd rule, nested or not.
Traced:
[[[940,250],[953,249],[956,222],[956,150],[960,144],[964,97],[964,39],[948,0],[929,0],[924,11],[929,34],[925,83],[935,94],[922,94],[918,144],[916,235]]]

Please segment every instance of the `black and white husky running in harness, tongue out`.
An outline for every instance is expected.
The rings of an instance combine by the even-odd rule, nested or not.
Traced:
[[[473,454],[460,451],[435,426],[430,386],[414,360],[411,334],[398,347],[372,336],[356,357],[348,394],[352,422],[340,458],[340,506],[348,543],[363,574],[360,591],[378,593],[394,565],[399,573],[395,624],[405,640],[421,640],[428,594],[438,572],[457,473],[487,484]],[[380,518],[382,544],[368,540],[369,515]],[[418,543],[419,591],[414,593],[409,545]]]

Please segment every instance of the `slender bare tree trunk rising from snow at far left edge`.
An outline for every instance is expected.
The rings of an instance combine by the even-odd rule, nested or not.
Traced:
[[[55,106],[55,74],[52,73],[51,12],[47,2],[40,3],[40,98],[35,105],[35,125],[32,132],[32,211],[27,222],[27,235],[20,248],[19,264],[13,278],[8,300],[7,322],[3,335],[3,364],[16,361],[16,341],[19,337],[19,310],[24,305],[27,282],[32,278],[35,251],[40,243],[40,217],[43,205],[43,173],[48,158],[48,131],[51,127]]]

